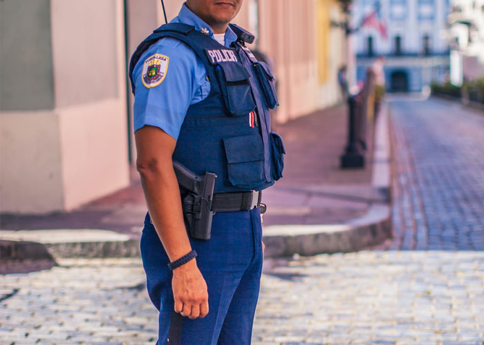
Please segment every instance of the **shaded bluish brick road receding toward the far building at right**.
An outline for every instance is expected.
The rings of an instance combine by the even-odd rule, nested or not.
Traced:
[[[484,114],[392,101],[394,249],[484,250]]]

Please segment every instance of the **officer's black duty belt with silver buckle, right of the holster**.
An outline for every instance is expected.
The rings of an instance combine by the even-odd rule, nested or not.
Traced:
[[[261,204],[262,192],[250,190],[250,192],[216,193],[212,199],[212,211],[236,212],[248,211],[260,207],[261,213],[266,212],[266,205]]]

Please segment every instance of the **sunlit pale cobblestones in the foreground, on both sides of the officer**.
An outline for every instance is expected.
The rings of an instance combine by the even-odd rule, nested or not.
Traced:
[[[1,344],[153,344],[157,315],[138,259],[61,264],[2,277]],[[263,276],[254,345],[484,339],[483,252],[364,251],[275,264]]]

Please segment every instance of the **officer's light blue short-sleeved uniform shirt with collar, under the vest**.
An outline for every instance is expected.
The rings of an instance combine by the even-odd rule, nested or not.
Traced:
[[[185,23],[195,26],[196,30],[208,31],[214,38],[210,26],[189,10],[185,4],[171,23]],[[236,41],[236,34],[227,28],[225,46]],[[161,81],[145,83],[143,75],[151,57],[162,57]],[[143,53],[133,70],[136,86],[133,107],[134,130],[143,126],[156,126],[178,139],[180,128],[190,105],[205,99],[210,92],[207,69],[192,48],[178,39],[165,38],[154,43]]]

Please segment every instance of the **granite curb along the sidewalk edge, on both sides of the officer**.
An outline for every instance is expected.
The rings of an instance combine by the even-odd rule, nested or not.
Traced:
[[[375,124],[372,187],[387,196],[362,217],[339,224],[264,227],[266,257],[352,252],[391,237],[391,166],[387,106]],[[68,257],[139,257],[140,241],[111,230],[0,230],[0,261]]]

